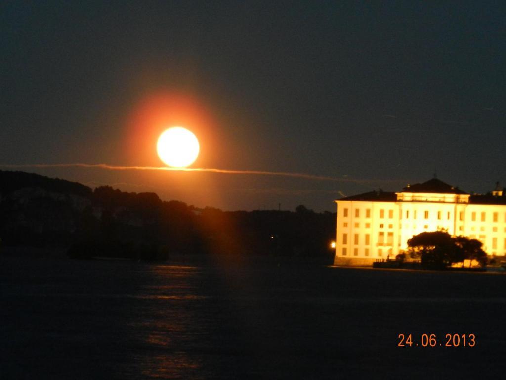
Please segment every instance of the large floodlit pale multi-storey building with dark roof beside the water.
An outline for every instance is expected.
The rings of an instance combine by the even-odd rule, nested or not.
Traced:
[[[506,194],[498,184],[490,194],[470,195],[433,178],[399,193],[373,191],[335,203],[335,265],[394,259],[413,235],[442,229],[480,240],[488,255],[506,255]]]

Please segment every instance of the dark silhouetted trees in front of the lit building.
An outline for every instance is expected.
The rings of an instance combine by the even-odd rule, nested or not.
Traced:
[[[444,269],[455,262],[476,260],[480,265],[487,263],[483,244],[465,236],[451,236],[446,231],[423,232],[408,240],[408,252],[419,258],[422,267]]]

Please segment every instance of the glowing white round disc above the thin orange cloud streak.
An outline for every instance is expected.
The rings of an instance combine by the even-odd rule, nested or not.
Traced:
[[[164,164],[185,168],[195,162],[200,146],[193,132],[183,127],[164,130],[156,144],[158,157]]]

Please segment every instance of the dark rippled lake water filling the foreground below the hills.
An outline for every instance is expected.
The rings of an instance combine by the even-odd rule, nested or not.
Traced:
[[[505,289],[501,274],[0,258],[0,378],[501,378]]]

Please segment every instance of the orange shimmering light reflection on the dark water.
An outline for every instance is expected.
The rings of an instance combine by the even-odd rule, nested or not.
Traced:
[[[153,284],[138,295],[144,311],[132,325],[145,355],[135,360],[147,378],[204,378],[199,347],[205,334],[198,327],[195,302],[208,297],[198,294],[198,269],[157,265],[150,270]]]

